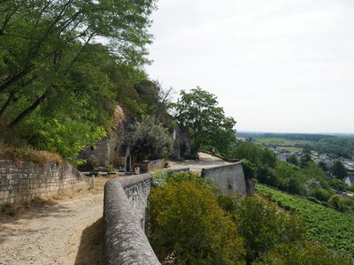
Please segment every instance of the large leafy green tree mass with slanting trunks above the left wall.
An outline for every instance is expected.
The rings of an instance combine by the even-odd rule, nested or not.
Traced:
[[[154,8],[155,0],[1,1],[0,136],[18,133],[65,158],[102,138],[119,92],[146,78]]]

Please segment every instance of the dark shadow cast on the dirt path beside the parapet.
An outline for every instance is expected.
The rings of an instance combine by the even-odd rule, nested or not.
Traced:
[[[82,231],[75,265],[103,264],[103,223],[103,218],[101,217]]]

